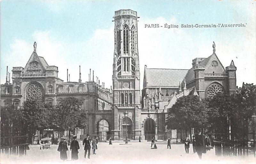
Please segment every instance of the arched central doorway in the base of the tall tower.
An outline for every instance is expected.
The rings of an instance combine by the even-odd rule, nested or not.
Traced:
[[[127,138],[131,140],[132,139],[132,120],[128,116],[125,116],[121,121],[121,138],[123,138],[123,140],[125,140],[126,133],[127,133]]]

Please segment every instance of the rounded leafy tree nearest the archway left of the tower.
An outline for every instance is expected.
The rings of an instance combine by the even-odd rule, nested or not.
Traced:
[[[81,109],[81,101],[74,97],[64,98],[53,108],[53,123],[64,130],[86,127],[86,113]]]

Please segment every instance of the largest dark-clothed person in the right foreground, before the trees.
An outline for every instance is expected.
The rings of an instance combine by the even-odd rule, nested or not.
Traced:
[[[196,139],[196,153],[199,159],[202,159],[202,153],[206,153],[205,149],[205,137],[202,134],[201,130],[199,130],[198,134],[195,136]]]

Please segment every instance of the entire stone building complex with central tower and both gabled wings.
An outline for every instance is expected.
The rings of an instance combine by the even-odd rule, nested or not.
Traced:
[[[193,59],[190,69],[145,65],[140,90],[139,17],[137,12],[128,9],[116,11],[113,18],[113,90],[105,88],[104,83],[100,85],[93,71],[91,76],[91,70],[89,80],[82,82],[80,66],[78,82],[70,82],[68,73],[64,82],[58,77],[58,67],[49,66],[37,55],[35,42],[26,66],[12,68],[12,81],[6,72],[6,82],[1,84],[1,106],[20,107],[30,98],[57,105],[63,98],[72,96],[83,103],[82,109],[88,114],[87,128],[74,132],[78,139],[90,134],[99,136],[100,140],[110,137],[113,140],[151,140],[152,137],[162,140],[177,138],[177,131],[168,130],[165,121],[167,110],[178,98],[198,95],[204,99],[217,93],[236,93],[236,66],[233,60],[226,68],[221,64],[214,42],[213,53],[208,58]],[[56,137],[58,133],[53,132],[53,135]],[[41,139],[44,134],[37,137]]]

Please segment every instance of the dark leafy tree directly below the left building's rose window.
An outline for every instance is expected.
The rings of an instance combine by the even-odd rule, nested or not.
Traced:
[[[47,115],[44,103],[38,100],[27,100],[23,103],[22,112],[22,125],[23,132],[32,141],[36,130],[44,129],[47,127]]]

